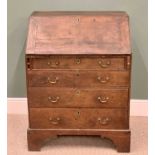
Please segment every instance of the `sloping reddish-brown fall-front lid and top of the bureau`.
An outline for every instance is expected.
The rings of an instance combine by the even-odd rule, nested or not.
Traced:
[[[26,54],[130,54],[125,12],[34,12]]]

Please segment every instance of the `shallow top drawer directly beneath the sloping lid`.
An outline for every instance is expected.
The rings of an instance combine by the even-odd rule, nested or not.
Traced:
[[[32,59],[32,69],[126,69],[125,57],[80,57],[49,56]]]

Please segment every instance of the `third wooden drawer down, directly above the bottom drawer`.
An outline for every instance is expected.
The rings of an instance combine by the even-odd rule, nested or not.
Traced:
[[[128,89],[29,87],[30,107],[128,107]]]

